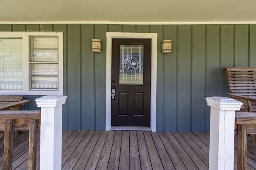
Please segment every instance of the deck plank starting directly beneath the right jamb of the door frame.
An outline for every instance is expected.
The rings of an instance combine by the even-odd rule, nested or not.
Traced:
[[[154,143],[156,145],[156,149],[158,151],[158,155],[161,159],[162,165],[165,170],[172,170],[174,169],[174,165],[172,164],[172,160],[170,156],[168,155],[159,135],[157,132],[151,132],[151,136],[154,140]]]

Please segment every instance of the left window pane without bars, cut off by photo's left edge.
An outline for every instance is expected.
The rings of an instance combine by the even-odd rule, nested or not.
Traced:
[[[21,38],[0,38],[0,89],[23,89]]]

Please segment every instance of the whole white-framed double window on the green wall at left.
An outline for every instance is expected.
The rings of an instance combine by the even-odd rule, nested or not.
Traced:
[[[62,32],[0,32],[0,94],[63,94]]]

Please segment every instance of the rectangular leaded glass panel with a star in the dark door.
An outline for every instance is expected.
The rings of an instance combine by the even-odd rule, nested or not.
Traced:
[[[144,45],[120,45],[119,84],[144,84]]]

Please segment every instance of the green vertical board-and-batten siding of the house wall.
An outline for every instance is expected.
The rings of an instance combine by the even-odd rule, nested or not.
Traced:
[[[209,131],[205,98],[226,96],[222,68],[256,67],[256,25],[0,24],[0,31],[63,31],[63,129],[105,129],[106,32],[154,32],[157,40],[157,131]],[[102,41],[93,53],[92,39]],[[163,39],[172,53],[162,54]],[[34,100],[26,109],[39,109]]]

